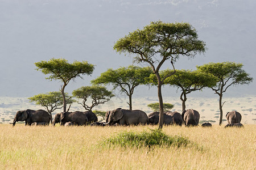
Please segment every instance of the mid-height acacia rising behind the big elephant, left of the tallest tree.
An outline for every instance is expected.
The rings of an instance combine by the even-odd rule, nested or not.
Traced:
[[[93,84],[112,84],[113,88],[120,88],[121,92],[129,96],[130,110],[132,110],[131,96],[134,93],[135,87],[140,84],[145,84],[145,78],[148,78],[152,70],[150,67],[138,67],[138,66],[128,66],[121,67],[119,69],[113,70],[108,69],[104,73],[101,73],[98,78],[92,80]]]

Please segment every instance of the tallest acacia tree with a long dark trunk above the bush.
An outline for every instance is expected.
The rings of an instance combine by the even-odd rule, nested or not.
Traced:
[[[175,73],[174,62],[180,56],[192,58],[197,53],[205,52],[205,42],[197,38],[196,29],[189,23],[159,21],[130,32],[114,44],[116,52],[135,54],[134,62],[146,62],[151,66],[158,80],[159,129],[163,128],[162,84],[167,77]],[[160,68],[167,60],[171,61],[174,71],[160,78]]]

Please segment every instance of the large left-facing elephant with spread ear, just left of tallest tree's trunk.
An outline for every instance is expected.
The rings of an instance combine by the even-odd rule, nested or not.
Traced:
[[[141,110],[114,109],[106,113],[106,125],[148,124],[147,114]]]

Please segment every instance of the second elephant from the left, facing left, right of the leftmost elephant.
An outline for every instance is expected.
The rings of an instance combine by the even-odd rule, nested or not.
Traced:
[[[66,122],[72,122],[73,125],[86,125],[88,118],[83,112],[61,112],[55,115],[53,120],[53,125],[60,123],[61,126],[64,126]]]

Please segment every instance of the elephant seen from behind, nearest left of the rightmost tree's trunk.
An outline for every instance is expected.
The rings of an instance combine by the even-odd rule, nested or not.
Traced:
[[[200,114],[196,110],[188,109],[184,110],[181,114],[185,126],[198,126]]]

